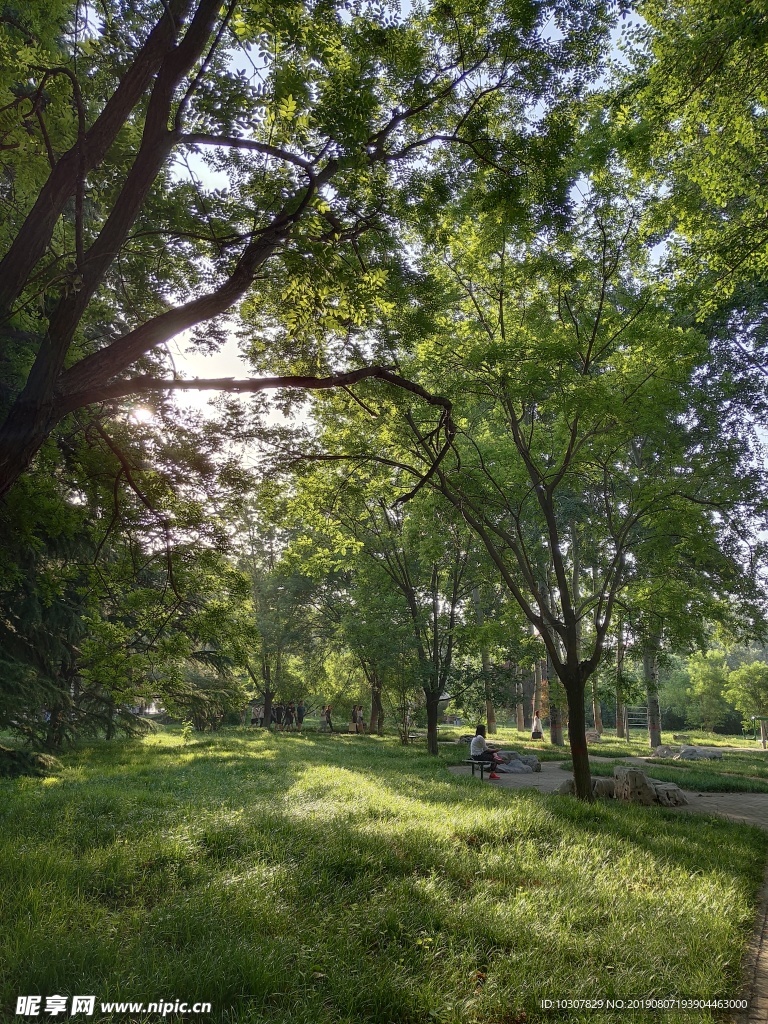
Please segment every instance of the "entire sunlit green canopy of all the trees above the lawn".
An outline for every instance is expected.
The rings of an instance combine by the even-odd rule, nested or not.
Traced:
[[[711,7],[3,8],[0,722],[210,723],[352,658],[436,753],[459,676],[543,649],[589,799],[613,646],[650,694],[763,636],[765,17]]]

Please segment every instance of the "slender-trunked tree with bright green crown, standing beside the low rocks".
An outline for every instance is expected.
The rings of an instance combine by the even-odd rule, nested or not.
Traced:
[[[748,444],[711,429],[716,410],[691,411],[702,339],[673,326],[615,193],[595,188],[573,226],[546,239],[453,209],[436,238],[425,261],[447,299],[419,379],[453,400],[458,429],[440,450],[433,424],[403,410],[398,463],[462,515],[541,636],[590,799],[585,686],[649,534],[697,517],[738,557],[728,509],[759,496],[759,474]]]

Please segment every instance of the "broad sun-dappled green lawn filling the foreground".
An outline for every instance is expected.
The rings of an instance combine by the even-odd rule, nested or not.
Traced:
[[[444,751],[166,731],[0,781],[0,1020],[32,993],[95,993],[94,1024],[172,1019],[98,1009],[157,999],[222,1024],[723,1019],[540,1000],[736,996],[768,835],[495,790]]]

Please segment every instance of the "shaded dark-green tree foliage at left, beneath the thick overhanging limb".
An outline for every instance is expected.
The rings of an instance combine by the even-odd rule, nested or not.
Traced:
[[[197,699],[201,658],[219,682],[242,664],[222,521],[242,474],[214,466],[216,429],[193,444],[194,426],[94,419],[0,505],[0,720],[30,741],[133,731],[138,706]]]

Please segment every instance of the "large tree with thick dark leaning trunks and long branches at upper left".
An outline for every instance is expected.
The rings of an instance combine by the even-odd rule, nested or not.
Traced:
[[[424,160],[440,146],[461,173],[477,162],[522,194],[521,163],[541,159],[548,128],[518,117],[502,143],[488,111],[546,105],[605,30],[601,4],[592,22],[582,3],[556,10],[552,43],[547,7],[510,16],[496,0],[403,19],[365,0],[268,12],[144,0],[98,20],[61,4],[54,31],[34,4],[4,17],[0,495],[74,412],[126,395],[369,377],[422,393],[348,344],[387,315],[388,274],[398,294],[393,197],[441,201],[450,181]],[[279,376],[168,373],[166,342],[191,331],[215,350],[247,298],[267,317],[254,366]]]

